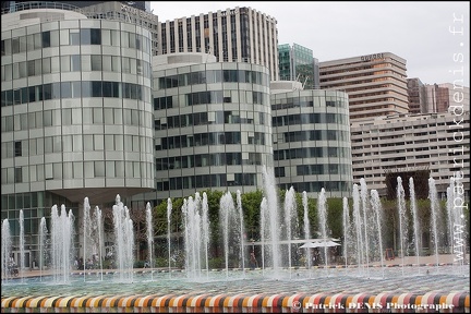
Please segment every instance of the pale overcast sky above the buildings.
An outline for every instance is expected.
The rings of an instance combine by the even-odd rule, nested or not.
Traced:
[[[463,80],[470,86],[469,1],[150,3],[159,22],[250,7],[278,21],[278,44],[310,48],[321,62],[392,52],[407,60],[408,77],[426,84]]]

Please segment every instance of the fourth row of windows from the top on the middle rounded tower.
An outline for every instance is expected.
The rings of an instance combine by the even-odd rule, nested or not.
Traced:
[[[156,150],[198,147],[208,145],[241,144],[241,132],[209,132],[195,133],[193,135],[178,135],[161,138],[161,145],[156,145]],[[265,134],[254,132],[249,136],[249,145],[265,145]]]

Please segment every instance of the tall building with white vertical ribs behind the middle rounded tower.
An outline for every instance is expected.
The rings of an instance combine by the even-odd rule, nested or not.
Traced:
[[[278,74],[278,29],[275,17],[251,8],[182,16],[158,24],[158,53],[206,52],[219,62],[249,62]]]

